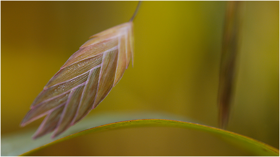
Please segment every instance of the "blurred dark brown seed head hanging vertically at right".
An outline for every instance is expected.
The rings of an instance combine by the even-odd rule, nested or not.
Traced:
[[[241,1],[227,2],[218,89],[219,125],[221,128],[225,128],[228,124],[230,105],[232,104],[244,3]]]

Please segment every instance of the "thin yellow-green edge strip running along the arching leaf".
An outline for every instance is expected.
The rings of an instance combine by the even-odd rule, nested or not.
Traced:
[[[188,128],[188,129],[197,129],[197,130],[203,130],[215,134],[225,134],[227,136],[232,136],[241,140],[245,140],[249,143],[253,143],[262,149],[265,149],[268,152],[271,152],[272,154],[275,154],[279,156],[279,149],[276,149],[266,143],[260,142],[258,140],[252,139],[251,137],[247,137],[238,133],[234,133],[231,131],[215,128],[215,127],[209,127],[202,124],[196,124],[196,123],[190,123],[190,122],[184,122],[184,121],[175,121],[175,120],[166,120],[166,119],[138,119],[138,120],[130,120],[130,121],[120,121],[110,124],[101,125],[98,127],[93,127],[87,130],[80,131],[78,133],[74,133],[72,135],[63,137],[61,139],[55,140],[51,143],[45,144],[43,146],[40,146],[38,148],[32,149],[26,153],[23,153],[20,156],[30,156],[30,154],[37,152],[45,147],[51,146],[55,143],[59,143],[74,137],[78,137],[87,133],[93,133],[98,131],[106,131],[106,130],[112,130],[112,129],[119,129],[119,128],[130,128],[130,127],[159,127],[159,126],[167,126],[167,127],[179,127],[179,128]]]

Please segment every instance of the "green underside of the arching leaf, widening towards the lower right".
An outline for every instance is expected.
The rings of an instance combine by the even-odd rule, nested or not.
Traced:
[[[56,143],[60,143],[65,140],[69,140],[75,137],[80,137],[90,133],[97,133],[106,130],[116,130],[123,128],[135,128],[135,127],[178,127],[184,129],[192,129],[203,131],[207,133],[214,134],[226,141],[229,141],[234,144],[238,144],[241,147],[244,147],[248,151],[254,152],[257,155],[264,156],[279,156],[279,149],[276,149],[272,146],[269,146],[265,143],[262,143],[258,140],[252,139],[250,137],[246,137],[240,135],[238,133],[233,133],[227,130],[218,129],[215,127],[209,127],[201,124],[183,122],[183,121],[174,121],[174,120],[164,120],[164,119],[141,119],[141,120],[132,120],[132,121],[121,121],[111,124],[105,124],[98,127],[93,127],[91,129],[87,129],[67,137],[56,140],[52,143],[48,143],[44,146],[33,149],[29,152],[22,154],[22,156],[30,156],[32,153],[39,151],[40,149],[44,149],[48,146],[54,145]]]

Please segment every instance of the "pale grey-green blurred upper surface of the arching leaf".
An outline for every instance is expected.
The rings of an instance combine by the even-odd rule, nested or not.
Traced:
[[[71,110],[71,107],[69,107]],[[76,111],[75,108],[73,110]],[[69,111],[69,110],[67,110]],[[74,113],[75,115],[75,113]],[[67,117],[66,117],[67,118]],[[1,155],[2,156],[18,156],[32,149],[38,148],[45,144],[51,143],[62,137],[66,137],[73,133],[86,130],[91,127],[98,127],[104,124],[115,123],[119,121],[126,121],[128,119],[174,119],[182,121],[192,121],[194,120],[182,117],[179,115],[173,115],[170,113],[163,112],[150,112],[150,111],[106,111],[102,113],[96,113],[92,115],[85,116],[82,121],[75,124],[73,127],[68,127],[63,133],[59,134],[55,138],[49,138],[49,135],[42,136],[36,140],[32,140],[32,134],[35,133],[36,127],[30,129],[22,128],[19,131],[13,133],[4,133],[1,135]],[[71,121],[70,121],[71,123]],[[28,143],[28,145],[26,145]]]

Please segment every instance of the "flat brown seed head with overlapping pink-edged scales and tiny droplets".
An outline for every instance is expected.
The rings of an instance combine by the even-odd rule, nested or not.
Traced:
[[[46,115],[33,138],[56,137],[85,117],[122,78],[132,59],[133,23],[90,37],[48,81],[21,126]]]

